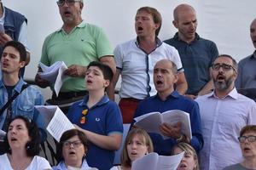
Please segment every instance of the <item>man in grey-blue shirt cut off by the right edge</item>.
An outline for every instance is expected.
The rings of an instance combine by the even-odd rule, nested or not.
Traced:
[[[250,34],[255,49],[253,54],[241,59],[238,63],[236,88],[256,88],[256,18],[251,23]],[[254,96],[255,99],[256,96]]]

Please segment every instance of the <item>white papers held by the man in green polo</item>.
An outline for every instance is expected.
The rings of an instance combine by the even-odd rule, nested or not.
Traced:
[[[64,71],[67,70],[67,65],[63,61],[57,61],[55,64],[47,66],[43,63],[39,63],[43,72],[38,72],[39,76],[44,80],[51,83],[55,83],[55,94],[58,96],[61,86],[67,76],[64,75]]]

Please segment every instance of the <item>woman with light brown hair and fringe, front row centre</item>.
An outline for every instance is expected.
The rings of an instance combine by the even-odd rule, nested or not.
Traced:
[[[121,165],[112,167],[110,170],[131,170],[132,161],[153,151],[153,144],[148,133],[142,128],[132,128],[125,139]]]

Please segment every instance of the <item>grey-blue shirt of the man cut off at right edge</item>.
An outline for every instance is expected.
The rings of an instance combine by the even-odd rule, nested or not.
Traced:
[[[236,88],[256,88],[256,51],[238,63]]]

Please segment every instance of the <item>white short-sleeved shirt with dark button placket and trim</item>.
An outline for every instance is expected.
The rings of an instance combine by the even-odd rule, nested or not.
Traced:
[[[114,49],[116,67],[121,71],[120,98],[145,99],[156,94],[153,81],[154,65],[160,59],[170,59],[183,71],[177,49],[156,39],[157,47],[147,54],[139,47],[137,39],[119,44]]]

